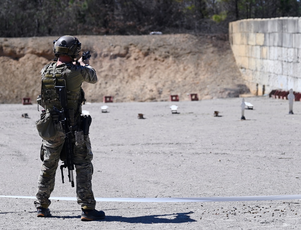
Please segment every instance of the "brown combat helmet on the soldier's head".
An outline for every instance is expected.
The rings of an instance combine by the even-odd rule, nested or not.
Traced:
[[[81,45],[76,37],[65,35],[53,41],[53,52],[56,58],[59,55],[67,55],[75,59],[79,56]]]

